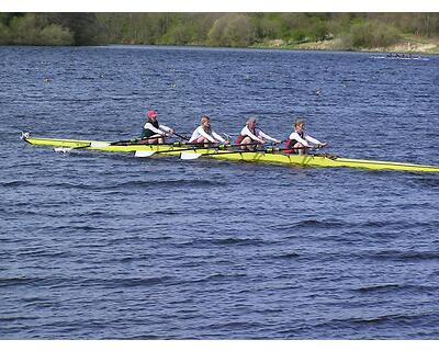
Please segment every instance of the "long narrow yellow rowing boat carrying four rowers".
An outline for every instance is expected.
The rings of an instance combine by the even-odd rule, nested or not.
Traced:
[[[54,139],[36,138],[30,135],[22,136],[22,139],[36,146],[52,146],[68,149],[89,149],[111,152],[142,152],[150,151],[160,156],[181,156],[182,154],[198,154],[196,156],[216,158],[222,160],[248,161],[248,162],[269,162],[289,166],[308,167],[350,167],[371,170],[395,170],[412,172],[439,172],[439,166],[426,166],[415,163],[362,160],[340,158],[327,154],[313,155],[288,155],[281,150],[257,150],[243,151],[234,147],[229,148],[200,148],[191,145],[176,143],[173,145],[147,145],[147,144],[121,144],[112,145],[111,141],[80,140],[80,139]],[[198,158],[198,157],[196,157]]]

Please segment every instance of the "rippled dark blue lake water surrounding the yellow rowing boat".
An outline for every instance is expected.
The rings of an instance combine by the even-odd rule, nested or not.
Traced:
[[[145,111],[439,163],[439,57],[0,47],[1,339],[438,339],[439,176],[59,155]]]

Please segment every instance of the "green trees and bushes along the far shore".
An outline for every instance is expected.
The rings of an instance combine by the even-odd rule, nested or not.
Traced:
[[[335,39],[339,49],[439,36],[439,13],[0,13],[0,45],[249,47]]]

